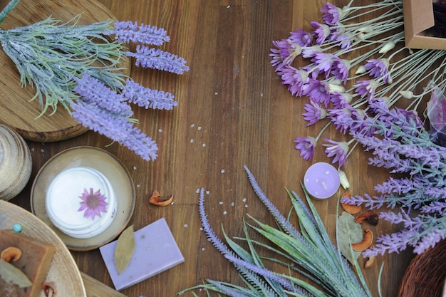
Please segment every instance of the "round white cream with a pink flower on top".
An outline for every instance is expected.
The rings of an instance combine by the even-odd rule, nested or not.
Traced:
[[[100,195],[105,207],[95,208],[93,205],[79,210],[83,202],[81,197],[88,194]],[[117,204],[118,199],[108,179],[90,167],[64,170],[53,179],[46,192],[46,212],[51,222],[63,233],[78,239],[105,231],[113,222]],[[84,214],[88,212],[90,215],[86,217]]]

